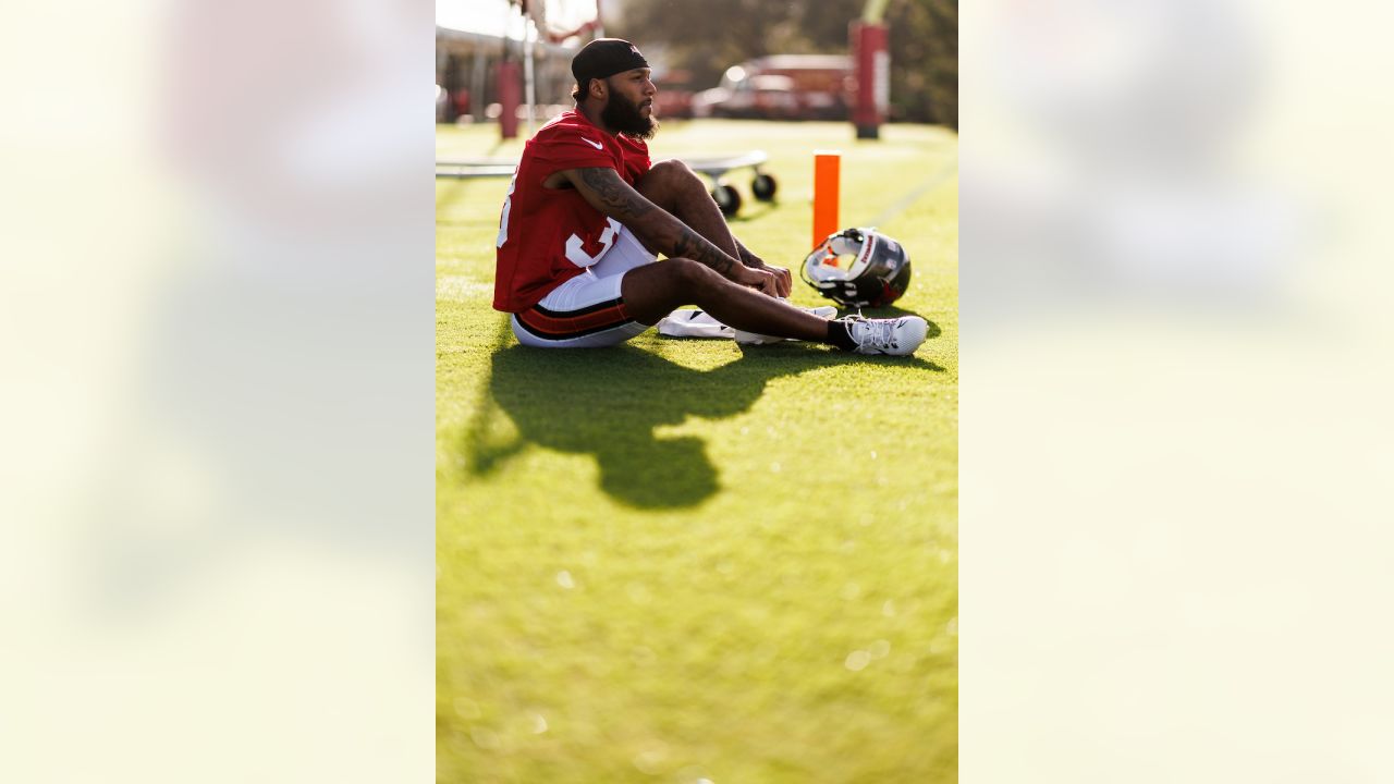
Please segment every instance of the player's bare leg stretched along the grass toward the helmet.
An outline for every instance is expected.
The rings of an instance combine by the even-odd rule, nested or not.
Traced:
[[[625,310],[654,325],[680,306],[697,306],[728,326],[776,338],[828,340],[828,321],[749,289],[687,258],[645,264],[625,273]]]

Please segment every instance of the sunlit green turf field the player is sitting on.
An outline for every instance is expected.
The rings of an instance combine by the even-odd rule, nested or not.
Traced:
[[[732,226],[790,269],[811,151],[841,149],[841,225],[906,246],[896,308],[930,339],[526,349],[489,307],[507,180],[438,180],[438,778],[956,781],[958,138],[696,121],[650,148],[767,151],[778,201],[732,173]],[[441,159],[520,151],[438,133]],[[797,272],[793,297],[825,303]]]

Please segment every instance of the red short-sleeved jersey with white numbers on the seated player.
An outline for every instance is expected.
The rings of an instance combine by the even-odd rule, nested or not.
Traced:
[[[519,312],[535,306],[611,248],[618,220],[576,188],[542,187],[556,172],[601,166],[633,186],[648,172],[648,145],[606,134],[576,110],[563,112],[528,140],[499,218],[495,310]]]

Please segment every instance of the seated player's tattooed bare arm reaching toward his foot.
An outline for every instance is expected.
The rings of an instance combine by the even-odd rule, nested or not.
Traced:
[[[594,167],[569,169],[562,174],[576,186],[577,193],[591,206],[627,226],[644,244],[658,248],[664,255],[690,258],[705,264],[736,283],[760,286],[763,290],[768,287],[771,293],[775,292],[776,285],[771,275],[746,266],[740,259],[728,255],[664,208],[644,198],[620,179],[619,172]]]

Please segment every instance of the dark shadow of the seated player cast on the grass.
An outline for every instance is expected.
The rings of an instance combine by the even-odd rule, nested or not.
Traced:
[[[914,357],[859,357],[795,343],[753,347],[743,359],[710,371],[630,346],[545,350],[514,345],[493,353],[489,400],[482,403],[506,413],[517,437],[491,444],[482,428],[471,428],[463,444],[468,472],[488,476],[535,444],[594,455],[601,490],[618,502],[648,509],[694,506],[721,488],[707,444],[691,435],[659,438],[657,427],[682,424],[687,417],[736,416],[749,410],[774,378],[848,363],[944,370]]]

